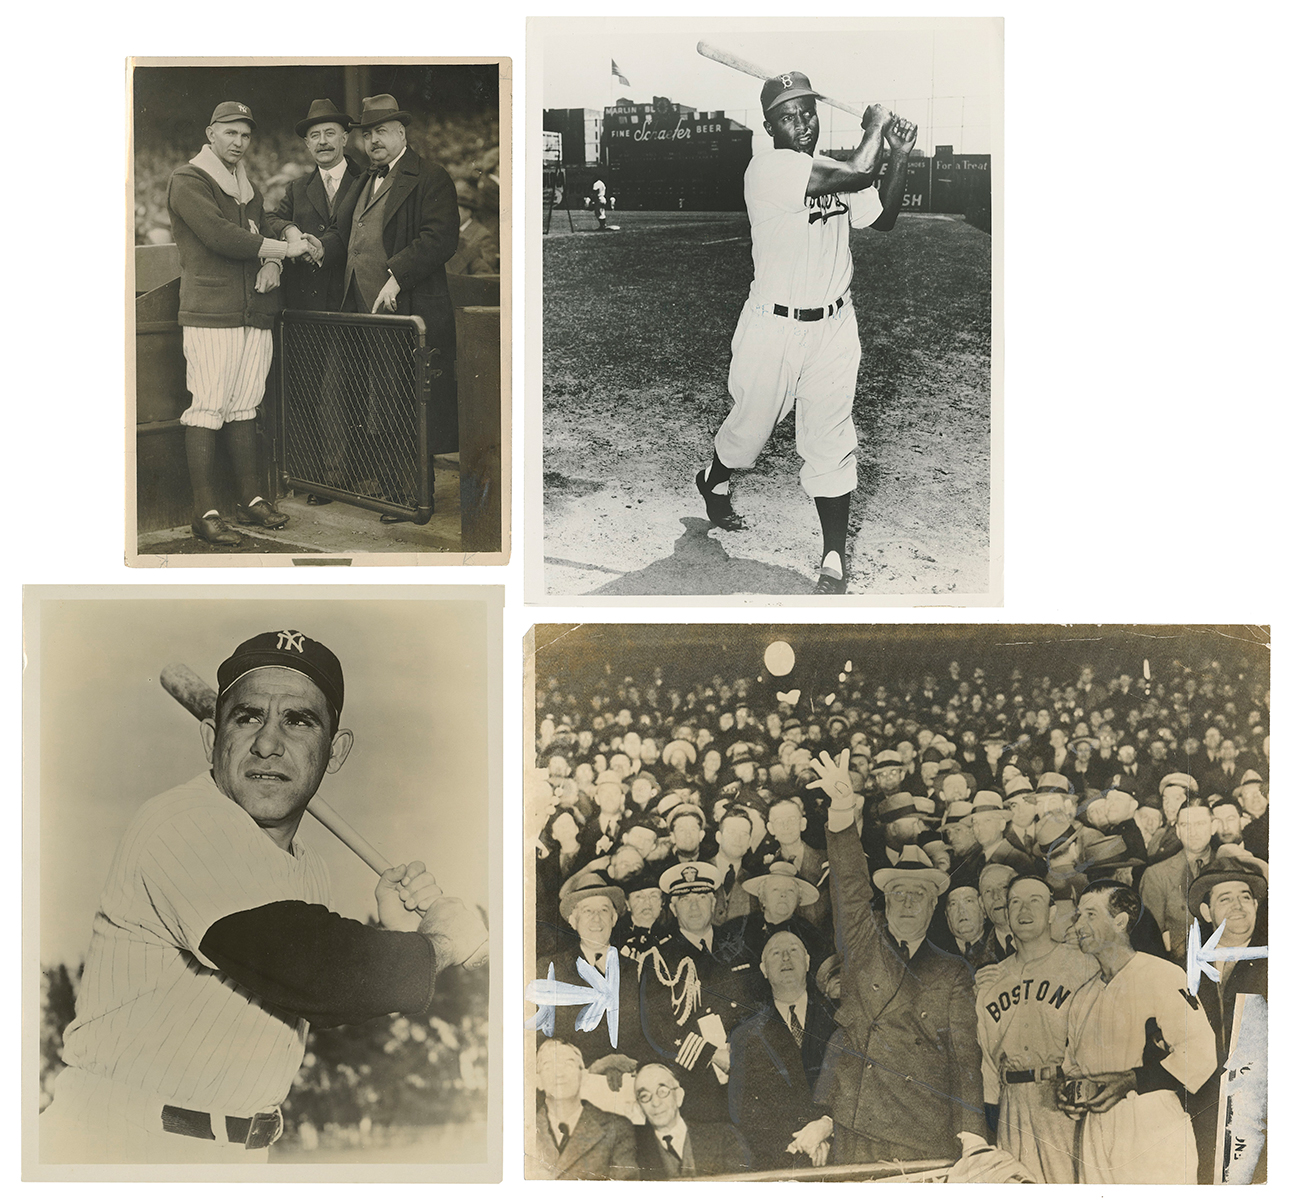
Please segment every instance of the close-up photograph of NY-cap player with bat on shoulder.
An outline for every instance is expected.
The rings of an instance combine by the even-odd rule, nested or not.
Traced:
[[[28,1169],[496,1178],[500,595],[128,590],[28,597]]]

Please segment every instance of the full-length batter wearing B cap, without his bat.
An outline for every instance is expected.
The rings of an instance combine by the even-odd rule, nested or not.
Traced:
[[[753,284],[731,340],[731,412],[713,439],[713,461],[695,477],[708,518],[743,530],[730,478],[753,466],[773,429],[797,404],[798,479],[817,502],[822,562],[817,592],[848,590],[848,508],[857,487],[853,398],[860,341],[853,311],[851,229],[890,230],[906,190],[916,127],[881,105],[866,110],[860,145],[842,160],[817,155],[820,121],[808,76],[762,85],[773,151],[744,173],[753,236]],[[884,146],[889,171],[876,187]]]

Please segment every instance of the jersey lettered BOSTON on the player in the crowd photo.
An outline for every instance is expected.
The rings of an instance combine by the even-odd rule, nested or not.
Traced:
[[[978,1045],[982,1090],[1000,1102],[1001,1070],[1057,1067],[1067,1045],[1072,993],[1099,969],[1089,955],[1062,942],[1031,962],[1010,955],[990,987],[978,989]]]

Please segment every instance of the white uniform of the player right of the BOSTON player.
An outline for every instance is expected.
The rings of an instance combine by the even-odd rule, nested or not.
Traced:
[[[1141,1067],[1150,1036],[1164,1042],[1162,1066],[1189,1091],[1216,1070],[1216,1036],[1185,973],[1154,955],[1136,953],[1109,983],[1087,980],[1072,996],[1067,1031],[1068,1076]],[[1174,1091],[1132,1091],[1107,1112],[1087,1113],[1076,1147],[1078,1183],[1198,1181],[1194,1132]]]

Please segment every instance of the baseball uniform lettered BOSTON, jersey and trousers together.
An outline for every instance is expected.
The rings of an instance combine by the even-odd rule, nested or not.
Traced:
[[[978,991],[982,1093],[988,1104],[1000,1104],[996,1142],[1043,1183],[1076,1182],[1076,1126],[1056,1103],[1054,1076],[1072,995],[1098,969],[1089,955],[1059,942],[1030,962],[1010,955],[991,986]],[[1005,1077],[1027,1071],[1044,1077]]]

